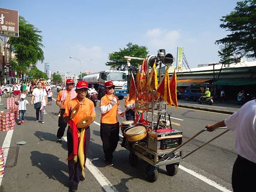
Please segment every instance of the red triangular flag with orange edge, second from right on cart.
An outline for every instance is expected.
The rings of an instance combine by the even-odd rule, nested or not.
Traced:
[[[166,67],[166,72],[165,72],[165,74],[163,76],[162,81],[160,82],[159,86],[157,87],[156,93],[159,93],[160,96],[163,97],[163,100],[169,106],[172,106],[171,93],[170,93],[170,81],[169,81],[168,70],[169,70],[169,67]]]

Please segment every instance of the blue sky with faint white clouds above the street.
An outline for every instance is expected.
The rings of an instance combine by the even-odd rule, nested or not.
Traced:
[[[42,31],[44,62],[53,71],[80,73],[107,70],[108,53],[119,51],[128,42],[177,55],[184,47],[189,67],[216,63],[214,42],[228,33],[219,27],[221,16],[229,14],[236,0],[0,0],[0,7],[19,11]],[[38,63],[44,70],[44,64]]]

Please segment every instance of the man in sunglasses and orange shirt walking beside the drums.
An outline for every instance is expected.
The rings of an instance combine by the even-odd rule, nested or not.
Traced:
[[[119,122],[116,115],[125,116],[121,111],[118,98],[114,96],[115,85],[112,81],[105,82],[106,93],[100,100],[102,113],[100,123],[100,137],[102,139],[105,160],[108,166],[113,166],[113,152],[119,141]]]

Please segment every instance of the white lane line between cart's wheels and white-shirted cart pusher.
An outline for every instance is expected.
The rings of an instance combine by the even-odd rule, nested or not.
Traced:
[[[198,174],[197,172],[187,169],[186,167],[179,165],[179,168],[182,169],[183,171],[189,173],[190,175],[193,175],[194,177],[197,177],[198,179],[204,181],[205,183],[209,184],[210,186],[213,186],[216,189],[219,189],[220,191],[232,192],[232,191],[228,190],[227,188],[221,186],[220,184],[216,183],[215,181],[212,181],[212,180],[208,179],[207,177],[204,177],[203,175]]]

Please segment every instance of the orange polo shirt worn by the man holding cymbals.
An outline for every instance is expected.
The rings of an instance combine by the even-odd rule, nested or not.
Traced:
[[[76,113],[76,116],[73,119],[73,121],[76,124],[79,123],[86,116],[92,116],[93,118],[95,118],[96,113],[95,113],[95,108],[94,108],[93,102],[90,99],[85,98],[84,103],[81,104],[76,97],[74,99],[71,99],[69,102],[67,102],[67,107],[65,108],[65,113],[64,113],[63,117],[70,116],[72,109],[78,103],[80,104],[80,108],[79,108],[78,113]]]

